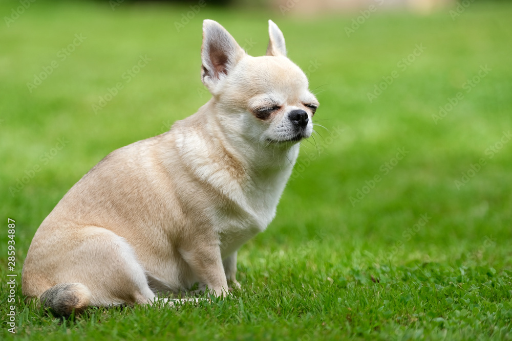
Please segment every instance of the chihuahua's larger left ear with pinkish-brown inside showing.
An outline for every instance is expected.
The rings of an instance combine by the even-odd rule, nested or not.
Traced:
[[[201,81],[213,92],[217,83],[226,77],[246,55],[234,38],[217,21],[203,21],[201,46]]]

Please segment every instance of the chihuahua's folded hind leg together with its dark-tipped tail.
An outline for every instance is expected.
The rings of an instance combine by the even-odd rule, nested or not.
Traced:
[[[57,283],[40,294],[43,305],[66,316],[88,306],[151,304],[155,300],[144,268],[124,238],[93,226],[76,234],[73,247],[51,257],[57,262],[51,266],[53,271],[38,270],[46,272],[48,282]],[[34,269],[29,268],[24,275],[31,272]]]

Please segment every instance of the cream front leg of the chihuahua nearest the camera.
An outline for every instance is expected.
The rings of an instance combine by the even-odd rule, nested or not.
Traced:
[[[222,264],[220,243],[217,239],[196,240],[194,245],[181,249],[181,254],[202,284],[217,297],[229,294]]]

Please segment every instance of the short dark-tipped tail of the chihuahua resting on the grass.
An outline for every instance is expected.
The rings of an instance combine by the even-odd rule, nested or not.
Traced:
[[[54,314],[69,317],[73,311],[81,313],[91,303],[91,290],[82,283],[60,283],[41,293],[42,306]]]

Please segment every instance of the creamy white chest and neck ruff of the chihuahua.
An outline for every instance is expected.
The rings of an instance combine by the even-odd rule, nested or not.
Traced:
[[[184,168],[202,184],[201,197],[207,198],[204,212],[220,237],[224,258],[264,231],[274,218],[298,146],[283,156],[287,163],[280,158],[274,160],[273,150],[269,155],[254,152],[254,157],[261,160],[254,163],[246,162],[246,147],[241,152],[232,150],[228,157],[225,149],[207,142],[189,127],[175,131],[175,145]],[[233,160],[239,161],[241,172],[234,171],[237,167],[233,167]]]

